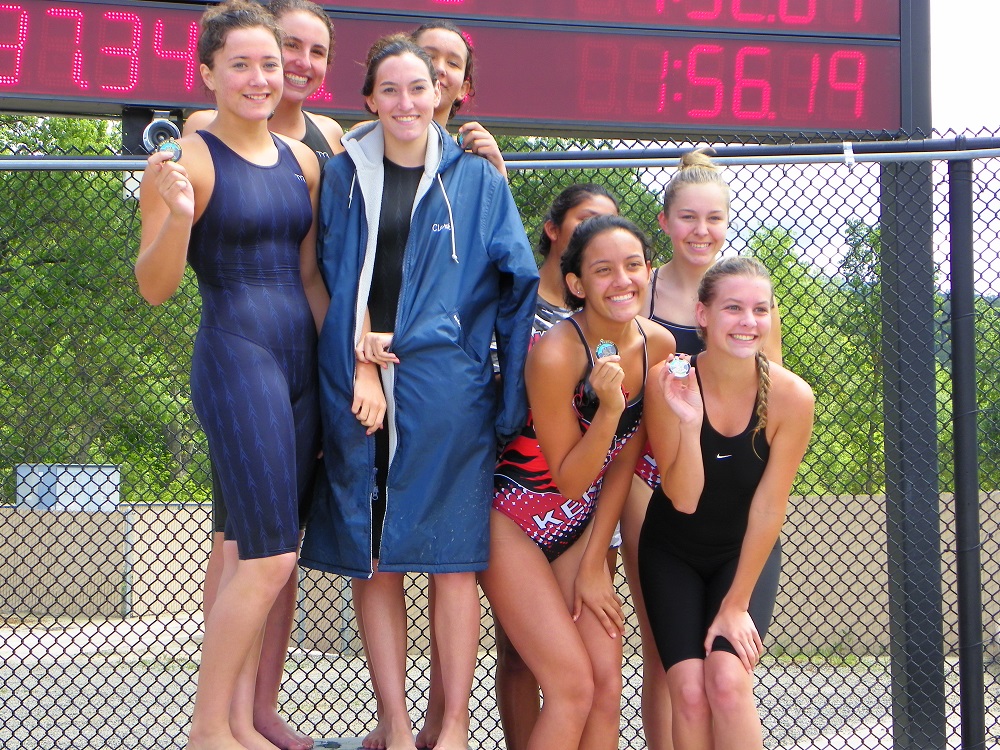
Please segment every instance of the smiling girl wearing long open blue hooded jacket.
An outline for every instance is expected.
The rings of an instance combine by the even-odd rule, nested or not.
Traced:
[[[414,747],[403,574],[435,577],[445,714],[465,748],[479,635],[475,573],[489,555],[497,440],[523,424],[538,274],[513,198],[486,160],[433,122],[440,89],[409,38],[369,51],[377,122],[324,170],[320,269],[333,302],[319,343],[329,497],[303,564],[354,577],[389,750]],[[490,361],[496,335],[498,389]]]

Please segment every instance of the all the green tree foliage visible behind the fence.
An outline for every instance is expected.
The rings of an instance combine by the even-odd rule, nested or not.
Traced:
[[[0,151],[117,149],[118,127],[100,120],[0,116]],[[556,139],[501,137],[505,151],[602,148]],[[555,195],[597,182],[623,214],[659,238],[660,199],[634,169],[512,170],[511,188],[537,240]],[[13,497],[19,463],[114,463],[127,501],[204,500],[211,479],[205,438],[188,393],[199,300],[189,274],[150,308],[135,290],[137,206],[117,172],[0,172],[0,477]],[[850,220],[834,276],[803,260],[796,238],[763,225],[747,238],[771,270],[782,312],[785,364],[817,398],[816,426],[795,491],[884,490],[881,237]],[[947,299],[937,300],[939,310]],[[946,324],[942,321],[942,326]],[[1000,301],[976,300],[981,486],[1000,486]],[[937,363],[942,489],[952,483],[951,380]]]

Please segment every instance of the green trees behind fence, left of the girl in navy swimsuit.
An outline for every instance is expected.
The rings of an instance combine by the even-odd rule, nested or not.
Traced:
[[[115,138],[99,120],[0,118],[12,151],[109,149]],[[181,314],[166,315],[136,293],[138,217],[122,175],[2,172],[0,189],[18,196],[0,205],[0,475],[20,463],[113,463],[126,500],[178,499],[169,487],[203,496],[204,439],[187,395],[196,293],[189,280],[172,303]]]

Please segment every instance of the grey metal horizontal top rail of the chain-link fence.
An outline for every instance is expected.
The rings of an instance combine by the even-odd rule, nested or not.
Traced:
[[[629,167],[674,167],[691,147],[629,148],[589,151],[505,152],[511,169],[597,169]],[[1000,138],[936,138],[920,141],[877,141],[762,146],[716,146],[718,164],[836,164],[858,162],[954,161],[1000,157]],[[0,171],[141,171],[145,158],[135,156],[0,157]]]

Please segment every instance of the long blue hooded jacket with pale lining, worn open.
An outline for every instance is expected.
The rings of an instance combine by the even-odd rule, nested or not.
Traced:
[[[330,292],[319,339],[327,481],[301,562],[367,578],[375,439],[351,405],[382,205],[382,126],[349,132],[344,146],[324,168],[320,199],[319,265]],[[527,415],[524,360],[537,286],[506,181],[434,125],[404,253],[392,343],[399,365],[382,370],[390,461],[379,570],[486,567],[497,440],[515,435]]]

